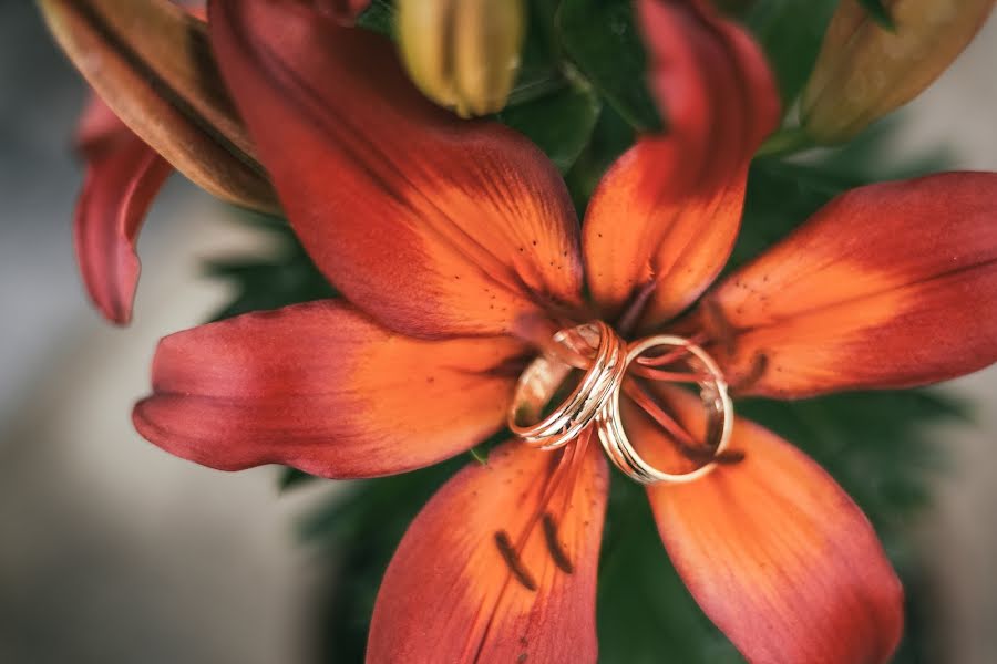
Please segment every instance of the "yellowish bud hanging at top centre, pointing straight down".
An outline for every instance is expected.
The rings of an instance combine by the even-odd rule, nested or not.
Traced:
[[[399,0],[398,39],[415,85],[470,117],[502,110],[524,34],[522,0]]]

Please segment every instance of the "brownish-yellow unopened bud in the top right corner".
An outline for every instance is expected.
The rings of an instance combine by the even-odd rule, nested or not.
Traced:
[[[894,29],[841,0],[806,89],[801,117],[819,143],[847,141],[907,103],[963,52],[994,0],[884,0]]]

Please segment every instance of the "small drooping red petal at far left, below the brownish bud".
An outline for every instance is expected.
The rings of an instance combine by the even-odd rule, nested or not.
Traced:
[[[81,118],[79,146],[86,159],[73,220],[80,274],[104,318],[123,325],[138,282],[138,230],[173,168],[96,97]]]

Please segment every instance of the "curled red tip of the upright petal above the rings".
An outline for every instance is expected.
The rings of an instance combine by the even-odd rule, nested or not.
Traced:
[[[779,124],[775,81],[747,32],[703,0],[639,0],[650,87],[668,133],[645,137],[659,166],[651,197],[710,190],[738,179]]]

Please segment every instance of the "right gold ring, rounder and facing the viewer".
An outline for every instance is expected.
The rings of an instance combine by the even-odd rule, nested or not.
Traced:
[[[727,393],[727,382],[723,380],[720,367],[717,366],[717,363],[706,351],[689,340],[662,334],[643,339],[630,345],[624,361],[624,372],[637,357],[658,346],[682,349],[692,356],[691,362],[697,365],[697,373],[700,375],[700,378],[697,381],[699,395],[709,414],[707,442],[715,442],[712,445],[713,456],[717,457],[727,449],[730,444],[730,434],[733,430],[733,403],[731,403]],[[624,430],[619,413],[621,386],[623,378],[615,385],[613,394],[598,415],[599,440],[617,468],[640,484],[682,484],[699,479],[717,467],[717,461],[709,461],[689,473],[672,474],[664,473],[648,464],[634,449],[630,439]]]

